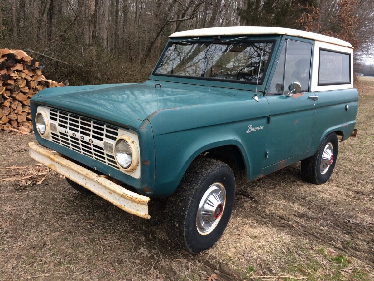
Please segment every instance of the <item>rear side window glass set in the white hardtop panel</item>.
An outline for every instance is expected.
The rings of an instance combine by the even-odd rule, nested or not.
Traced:
[[[318,86],[350,82],[350,54],[319,49]]]

